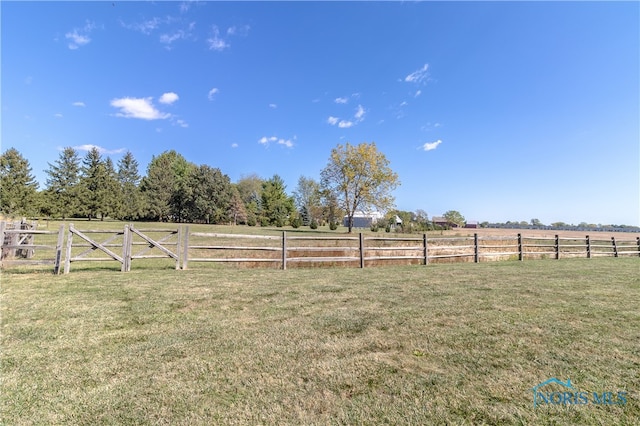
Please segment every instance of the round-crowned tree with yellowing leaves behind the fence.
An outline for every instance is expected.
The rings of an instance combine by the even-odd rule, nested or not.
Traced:
[[[338,145],[331,151],[329,163],[320,176],[322,187],[345,210],[349,232],[356,211],[370,208],[384,211],[393,207],[391,192],[400,184],[389,160],[375,143]]]

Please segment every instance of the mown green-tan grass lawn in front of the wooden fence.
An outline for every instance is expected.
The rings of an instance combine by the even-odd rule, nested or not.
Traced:
[[[639,277],[637,258],[3,273],[0,421],[637,424]],[[627,403],[534,408],[551,377]]]

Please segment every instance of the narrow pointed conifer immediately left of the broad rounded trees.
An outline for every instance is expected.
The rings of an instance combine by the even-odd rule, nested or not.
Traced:
[[[144,215],[144,199],[140,192],[138,162],[130,151],[118,161],[118,182],[121,204],[118,216],[124,220],[136,220]]]

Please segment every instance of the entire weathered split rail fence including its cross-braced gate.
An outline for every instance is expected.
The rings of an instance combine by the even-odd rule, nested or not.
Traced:
[[[127,272],[131,270],[132,263],[142,263],[144,259],[168,259],[175,269],[187,269],[197,263],[287,269],[339,264],[364,268],[398,263],[426,265],[432,262],[640,257],[640,237],[623,240],[615,237],[474,234],[469,237],[428,238],[426,234],[315,236],[286,231],[279,235],[244,235],[190,232],[189,226],[137,229],[130,224],[116,230],[79,230],[70,224],[66,247],[63,248],[64,226],[58,231],[9,228],[0,222],[2,268],[53,264],[56,274],[61,271],[62,264],[64,272],[69,273],[71,265],[77,262],[112,262]],[[37,238],[44,239],[44,242],[36,244]],[[159,264],[149,265],[158,267]]]

